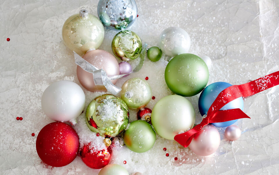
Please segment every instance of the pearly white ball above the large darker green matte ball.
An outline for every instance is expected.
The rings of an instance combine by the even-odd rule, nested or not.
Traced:
[[[169,27],[162,31],[159,38],[159,47],[164,54],[175,57],[187,53],[190,49],[191,39],[189,34],[179,27]]]

